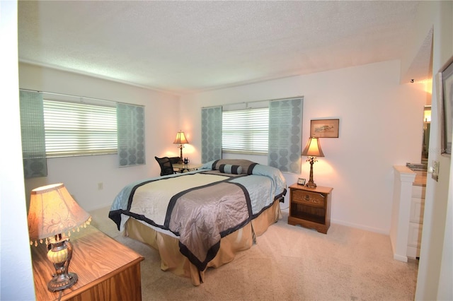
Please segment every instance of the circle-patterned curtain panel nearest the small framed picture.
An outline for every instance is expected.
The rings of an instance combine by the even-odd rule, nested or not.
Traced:
[[[303,106],[303,98],[269,103],[268,165],[282,172],[301,172]]]

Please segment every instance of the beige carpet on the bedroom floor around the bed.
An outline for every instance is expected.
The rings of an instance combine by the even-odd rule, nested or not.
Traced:
[[[142,254],[143,300],[413,300],[418,261],[393,259],[389,237],[331,225],[327,235],[287,224],[287,212],[258,244],[195,287],[160,269],[159,254],[115,228],[108,209],[92,225]]]

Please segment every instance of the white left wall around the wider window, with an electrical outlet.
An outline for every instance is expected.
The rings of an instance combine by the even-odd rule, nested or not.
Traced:
[[[179,130],[179,100],[175,95],[30,64],[19,65],[19,86],[145,106],[146,165],[120,168],[117,155],[50,158],[47,159],[47,177],[25,180],[28,200],[32,189],[63,182],[85,210],[110,206],[126,184],[159,175],[160,168],[154,155],[179,154],[172,144]],[[102,190],[98,190],[100,182],[103,183]]]

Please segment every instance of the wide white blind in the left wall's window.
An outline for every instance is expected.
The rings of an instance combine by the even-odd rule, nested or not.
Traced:
[[[47,157],[117,153],[116,108],[43,100]]]

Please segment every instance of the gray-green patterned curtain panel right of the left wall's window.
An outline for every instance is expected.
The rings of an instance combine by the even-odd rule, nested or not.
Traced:
[[[144,107],[118,103],[116,112],[120,166],[144,165]]]

